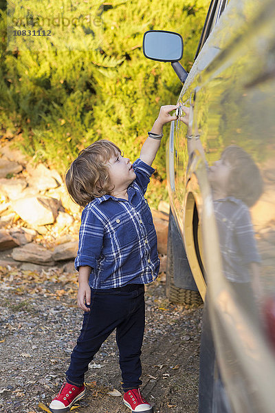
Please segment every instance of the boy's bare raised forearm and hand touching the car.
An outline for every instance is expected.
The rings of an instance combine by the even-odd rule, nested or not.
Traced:
[[[177,109],[178,106],[179,104],[166,105],[160,108],[159,116],[157,116],[157,119],[155,120],[155,123],[151,129],[151,132],[153,134],[161,135],[163,126],[166,123],[177,119],[177,116],[171,116],[169,112]],[[140,151],[140,159],[150,167],[153,163],[153,160],[155,159],[155,156],[160,146],[160,142],[161,139],[154,139],[148,136],[148,138],[145,140],[142,146],[142,150]]]

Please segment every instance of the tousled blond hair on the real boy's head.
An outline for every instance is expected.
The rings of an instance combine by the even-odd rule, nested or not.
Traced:
[[[69,195],[80,207],[102,195],[111,195],[111,180],[107,162],[119,147],[107,139],[98,140],[83,149],[65,171],[65,184]]]

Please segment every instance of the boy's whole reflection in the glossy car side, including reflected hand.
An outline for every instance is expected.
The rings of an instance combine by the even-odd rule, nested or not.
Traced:
[[[186,116],[181,120],[188,125],[190,109],[184,107],[184,112]],[[201,142],[196,138],[194,145],[203,154]],[[189,133],[188,139],[192,139]],[[189,155],[195,147],[188,145]],[[221,159],[208,167],[208,179],[219,231],[223,273],[243,306],[252,310],[252,297],[259,297],[261,292],[261,258],[256,248],[249,208],[263,191],[260,171],[244,149],[232,145],[225,148]]]

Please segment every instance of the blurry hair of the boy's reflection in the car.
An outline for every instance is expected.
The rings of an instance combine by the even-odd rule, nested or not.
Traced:
[[[263,179],[254,160],[237,145],[225,148],[221,158],[230,164],[228,195],[252,207],[263,193]]]

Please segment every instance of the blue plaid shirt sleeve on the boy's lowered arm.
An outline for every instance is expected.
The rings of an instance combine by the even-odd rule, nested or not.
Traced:
[[[79,271],[80,266],[90,266],[96,269],[96,263],[102,250],[103,231],[102,222],[86,207],[81,215],[79,230],[78,253],[74,266]]]

